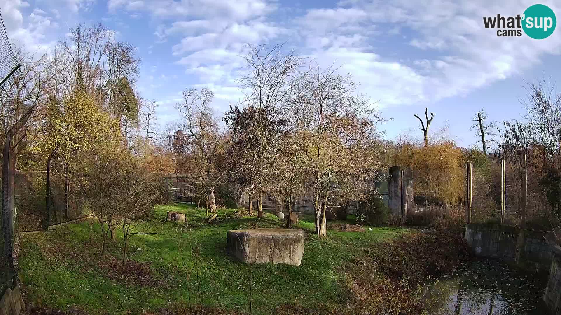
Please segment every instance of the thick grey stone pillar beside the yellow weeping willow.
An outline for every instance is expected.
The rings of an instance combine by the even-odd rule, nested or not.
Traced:
[[[389,168],[388,179],[388,208],[394,217],[399,217],[401,223],[407,220],[407,212],[415,210],[413,200],[413,174],[411,169],[404,166]]]

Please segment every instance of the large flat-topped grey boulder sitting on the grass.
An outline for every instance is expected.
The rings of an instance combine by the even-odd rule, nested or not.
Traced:
[[[286,263],[300,266],[304,254],[303,230],[229,230],[227,251],[245,263]]]

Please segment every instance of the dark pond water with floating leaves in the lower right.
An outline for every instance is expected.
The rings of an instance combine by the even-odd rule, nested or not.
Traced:
[[[432,281],[426,297],[431,314],[546,315],[546,279],[498,260],[464,262]]]

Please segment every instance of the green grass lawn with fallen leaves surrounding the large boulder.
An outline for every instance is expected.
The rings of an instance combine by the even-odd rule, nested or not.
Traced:
[[[183,224],[165,221],[166,211],[184,212],[190,231],[185,231]],[[136,314],[143,309],[188,307],[187,288],[191,286],[191,294],[196,295],[191,297],[191,303],[201,298],[210,307],[245,310],[252,273],[254,314],[269,314],[285,304],[335,305],[342,301],[344,283],[338,267],[363,256],[374,244],[389,242],[406,231],[375,227],[369,230],[370,226],[365,226],[366,233],[328,230],[327,238],[319,238],[313,234],[313,216],[304,216],[294,226],[307,232],[301,266],[261,264],[251,270],[226,254],[227,231],[283,228],[285,223],[272,214],[257,219],[235,211],[219,209],[217,219],[207,224],[205,210],[192,205],[157,206],[153,219],[141,229],[150,234],[131,239],[129,261],[124,268],[119,261],[122,233],[116,234],[100,261],[99,226],[94,225],[94,244],[89,245],[88,221],[25,235],[21,239],[19,266],[28,300],[60,309],[75,306],[93,314]],[[191,254],[189,240],[198,245],[197,259]],[[189,274],[187,270],[194,267],[195,261],[196,267]]]

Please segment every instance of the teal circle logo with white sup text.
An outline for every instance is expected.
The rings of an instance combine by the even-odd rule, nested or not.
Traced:
[[[557,19],[555,13],[544,4],[534,4],[524,11],[522,29],[533,39],[548,38],[555,30]]]

